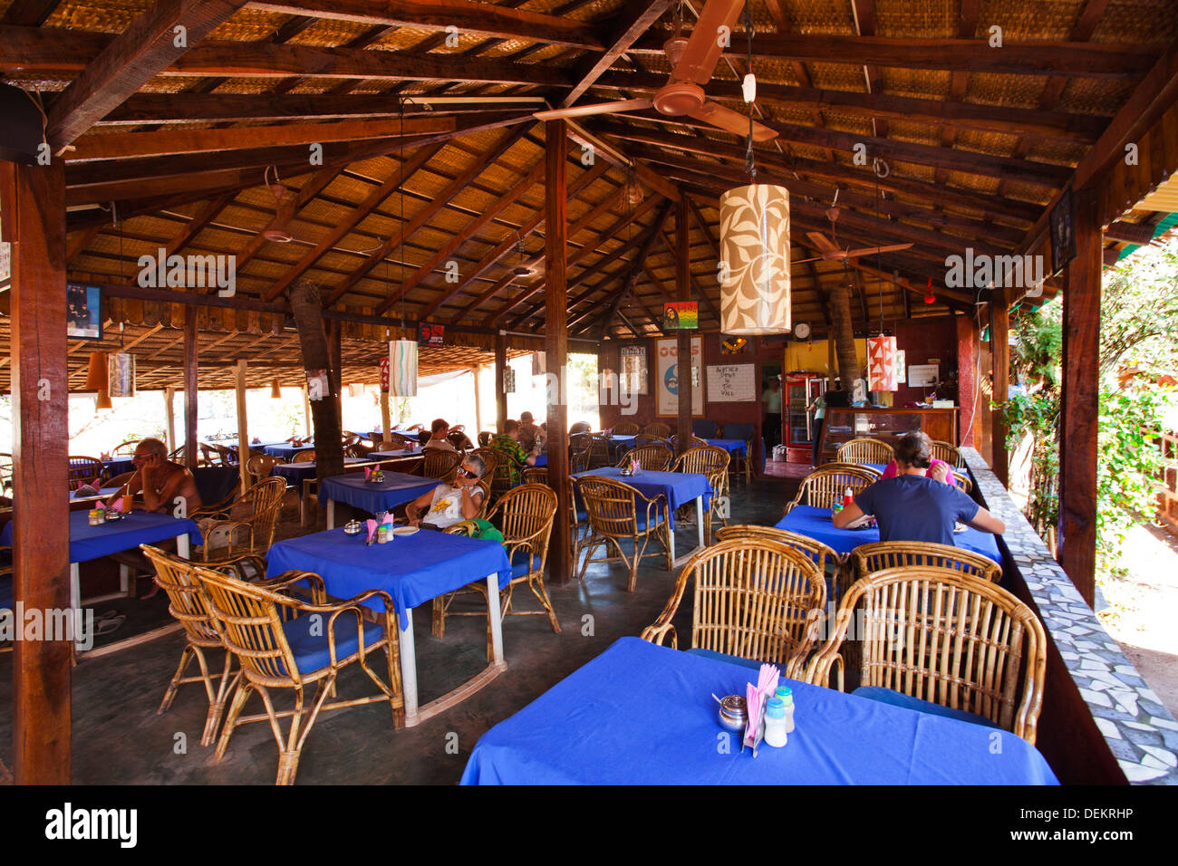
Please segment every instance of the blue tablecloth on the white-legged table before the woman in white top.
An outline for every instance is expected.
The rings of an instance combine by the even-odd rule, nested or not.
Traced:
[[[365,589],[383,589],[392,596],[402,628],[405,612],[444,593],[484,580],[496,573],[499,586],[511,580],[511,563],[497,541],[466,538],[422,529],[396,536],[385,544],[365,544],[365,534],[344,530],[304,535],[280,541],[266,554],[266,576],[290,569],[315,571],[337,599],[351,599]],[[383,610],[379,599],[368,604]]]

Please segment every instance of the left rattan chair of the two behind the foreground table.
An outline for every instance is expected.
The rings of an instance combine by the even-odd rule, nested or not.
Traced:
[[[819,637],[826,581],[805,553],[743,536],[701,550],[683,566],[667,607],[642,639],[679,648],[671,620],[693,586],[691,648],[779,665],[799,679]]]

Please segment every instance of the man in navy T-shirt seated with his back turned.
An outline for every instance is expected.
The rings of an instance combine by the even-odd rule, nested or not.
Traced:
[[[922,432],[905,436],[895,447],[899,475],[863,490],[834,515],[834,525],[847,528],[863,515],[875,515],[880,541],[925,541],[953,547],[953,524],[960,521],[984,533],[1001,535],[1006,524],[969,498],[955,484],[926,476],[932,463],[931,441]]]

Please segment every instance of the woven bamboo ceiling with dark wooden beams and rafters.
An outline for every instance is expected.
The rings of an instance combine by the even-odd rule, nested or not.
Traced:
[[[365,381],[384,324],[402,320],[448,325],[451,345],[423,353],[425,371],[478,363],[498,331],[512,350],[536,348],[545,126],[532,112],[650,99],[671,71],[663,42],[676,9],[690,35],[704,4],[187,7],[0,0],[0,77],[44,110],[66,160],[71,279],[107,287],[104,344],[124,323],[123,339],[141,341],[147,386],[178,384],[183,309],[118,287],[160,250],[234,257],[231,303],[245,306],[199,308],[203,385],[227,382],[241,357],[259,382],[296,383],[283,378],[298,344],[278,310],[302,280],[326,309],[368,317],[345,329],[345,381]],[[737,19],[703,90],[747,114],[752,52],[754,118],[776,133],[754,147],[756,177],[790,190],[793,318],[819,331],[842,286],[859,328],[972,313],[977,293],[944,284],[946,258],[1017,251],[1178,37],[1165,0],[750,0],[748,13],[752,46]],[[176,26],[183,49],[152,47]],[[102,52],[124,62],[111,71],[95,62]],[[680,231],[701,326],[719,326],[717,199],[748,181],[746,156],[740,132],[654,107],[575,120],[571,337],[660,333],[662,303],[679,296]],[[683,226],[673,199],[687,200]],[[1110,247],[1160,216],[1126,216]],[[263,236],[276,224],[289,240]],[[845,264],[822,258],[815,234],[840,250],[911,246]],[[88,348],[73,346],[72,370]]]

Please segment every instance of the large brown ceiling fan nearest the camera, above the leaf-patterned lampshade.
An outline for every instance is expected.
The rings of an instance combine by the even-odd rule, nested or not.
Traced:
[[[712,80],[716,64],[723,54],[716,33],[721,27],[727,27],[732,32],[743,7],[744,0],[707,0],[689,38],[682,35],[682,20],[676,14],[675,35],[663,44],[663,51],[671,66],[670,80],[655,92],[654,99],[623,99],[615,103],[554,108],[536,112],[534,117],[537,120],[558,120],[642,111],[653,106],[655,111],[667,117],[677,118],[686,114],[726,132],[747,135],[748,115],[712,101],[703,92],[703,85]],[[752,94],[752,88],[749,93]],[[776,137],[774,130],[753,121],[754,140],[768,141]]]

